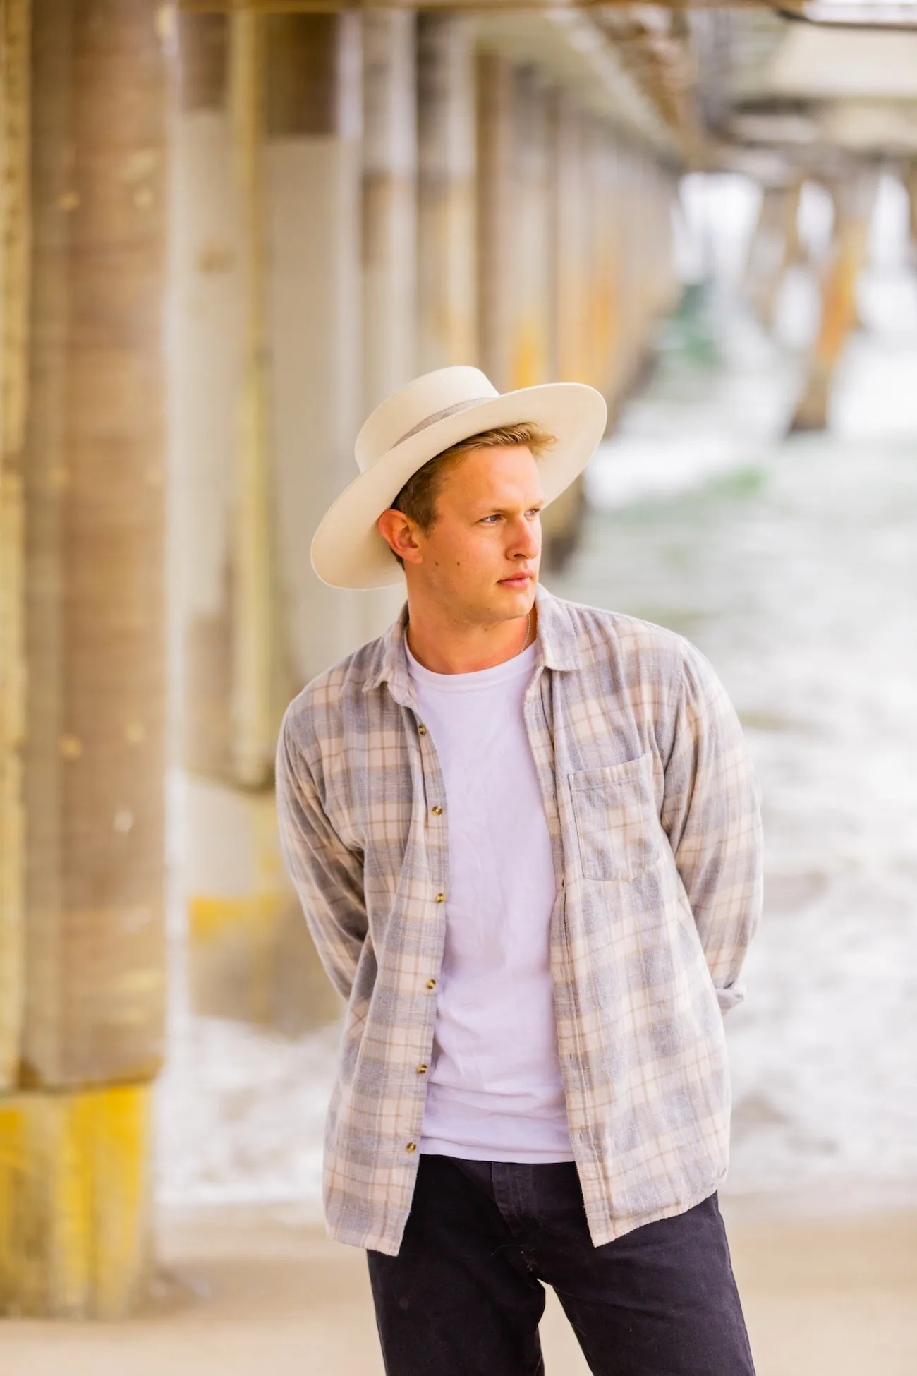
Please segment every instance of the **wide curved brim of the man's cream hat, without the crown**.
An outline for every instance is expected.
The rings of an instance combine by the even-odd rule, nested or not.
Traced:
[[[382,454],[349,483],[322,517],[312,567],[331,588],[385,588],[403,574],[375,523],[419,468],[459,440],[500,425],[532,421],[553,444],[538,461],[544,504],[569,487],[595,453],[608,421],[601,392],[583,383],[544,383],[502,392],[434,421]]]

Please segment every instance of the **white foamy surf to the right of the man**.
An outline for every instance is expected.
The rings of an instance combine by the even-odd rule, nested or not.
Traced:
[[[719,476],[619,477],[638,505],[613,494],[595,510],[558,581],[683,630],[745,720],[767,897],[749,998],[727,1021],[729,1189],[775,1198],[917,1190],[917,330],[913,283],[899,288],[894,329],[851,341],[828,435],[778,443],[751,420],[737,433],[734,384],[698,374],[665,464],[722,398]],[[780,370],[762,377],[775,406]],[[670,387],[660,376],[642,407]],[[638,454],[609,446],[601,462],[615,460]],[[602,475],[594,497],[610,488]]]

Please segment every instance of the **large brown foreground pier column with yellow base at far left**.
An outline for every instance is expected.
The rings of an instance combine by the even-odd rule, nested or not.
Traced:
[[[0,1307],[125,1313],[162,1057],[169,11],[33,0],[25,1022]]]

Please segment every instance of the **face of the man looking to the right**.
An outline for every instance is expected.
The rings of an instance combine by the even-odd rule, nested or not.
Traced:
[[[478,449],[448,469],[436,522],[414,531],[419,560],[408,579],[458,621],[478,625],[524,616],[535,601],[544,493],[524,444]]]

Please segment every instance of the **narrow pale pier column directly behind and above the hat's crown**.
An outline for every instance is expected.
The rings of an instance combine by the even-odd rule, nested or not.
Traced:
[[[368,416],[415,374],[417,58],[407,10],[363,15],[363,405]],[[401,582],[359,599],[362,637],[381,634]]]

